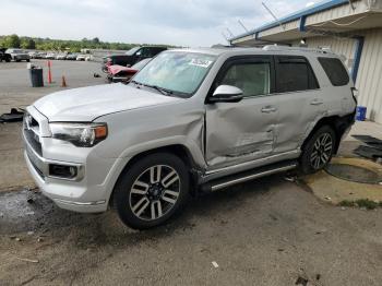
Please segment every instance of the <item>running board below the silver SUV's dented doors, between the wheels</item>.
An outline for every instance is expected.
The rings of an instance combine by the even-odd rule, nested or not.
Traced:
[[[259,167],[255,169],[242,171],[242,172],[227,176],[220,179],[208,181],[201,186],[201,190],[214,192],[240,182],[253,180],[253,179],[265,177],[276,172],[290,170],[296,168],[297,165],[298,165],[297,160],[286,160],[286,162],[280,162],[280,163]]]

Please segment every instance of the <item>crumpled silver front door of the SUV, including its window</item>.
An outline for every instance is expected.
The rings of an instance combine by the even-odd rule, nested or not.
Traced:
[[[270,156],[274,151],[277,106],[273,103],[272,57],[228,60],[212,86],[232,85],[243,92],[238,103],[206,105],[205,159],[210,169]]]

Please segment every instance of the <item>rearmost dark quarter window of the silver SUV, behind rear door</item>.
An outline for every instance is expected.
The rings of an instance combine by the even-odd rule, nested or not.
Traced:
[[[349,83],[349,75],[339,59],[319,58],[319,62],[334,86],[342,86]]]

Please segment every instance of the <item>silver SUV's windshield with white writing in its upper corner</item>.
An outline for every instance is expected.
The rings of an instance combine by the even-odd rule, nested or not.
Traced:
[[[215,57],[184,51],[162,52],[133,79],[133,83],[193,94],[210,71]]]

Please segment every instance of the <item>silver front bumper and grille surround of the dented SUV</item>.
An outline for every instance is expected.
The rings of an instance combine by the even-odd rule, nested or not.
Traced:
[[[44,195],[59,207],[99,213],[108,208],[108,201],[127,158],[105,158],[96,148],[80,148],[49,135],[48,120],[34,107],[27,114],[34,119],[31,126],[24,120],[24,157],[27,168]],[[37,122],[37,123],[36,123]],[[29,131],[34,131],[32,133]],[[52,165],[73,166],[72,178],[52,176]]]

